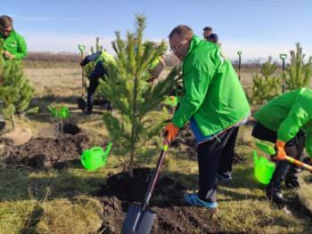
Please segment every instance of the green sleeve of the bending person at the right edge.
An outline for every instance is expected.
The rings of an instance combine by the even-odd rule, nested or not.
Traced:
[[[299,132],[300,128],[311,119],[305,108],[306,104],[302,101],[296,101],[277,130],[277,139],[281,141],[290,141]]]

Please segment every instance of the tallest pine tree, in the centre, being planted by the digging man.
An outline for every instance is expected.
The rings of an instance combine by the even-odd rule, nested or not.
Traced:
[[[152,61],[166,52],[164,41],[156,48],[153,44],[143,44],[145,17],[136,15],[135,33],[127,32],[122,40],[116,32],[112,43],[116,52],[117,66],[107,65],[108,75],[101,82],[100,91],[111,101],[117,113],[103,113],[104,123],[110,133],[116,153],[123,156],[130,176],[133,176],[135,155],[144,148],[146,141],[160,133],[162,121],[155,121],[155,112],[165,96],[172,92],[177,68],[168,77],[152,85],[148,82]],[[152,113],[153,116],[152,116]],[[160,117],[161,113],[156,114]]]

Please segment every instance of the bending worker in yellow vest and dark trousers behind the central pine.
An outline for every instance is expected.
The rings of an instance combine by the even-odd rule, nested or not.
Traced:
[[[99,79],[104,77],[107,73],[105,64],[116,65],[114,57],[105,51],[94,52],[93,54],[87,55],[85,59],[80,61],[81,66],[86,66],[89,62],[94,62],[94,69],[91,71],[88,79],[89,86],[87,88],[86,97],[86,114],[91,115],[93,113],[94,106],[94,93],[99,85]],[[108,109],[111,109],[111,104],[108,103]]]

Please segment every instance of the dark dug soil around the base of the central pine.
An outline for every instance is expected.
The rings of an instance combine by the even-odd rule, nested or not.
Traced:
[[[103,203],[104,222],[100,233],[120,233],[127,209],[144,199],[152,170],[136,169],[135,177],[114,174],[96,195]],[[152,194],[150,209],[157,213],[152,233],[215,233],[216,224],[209,222],[206,208],[186,206],[185,187],[170,177],[161,176]]]

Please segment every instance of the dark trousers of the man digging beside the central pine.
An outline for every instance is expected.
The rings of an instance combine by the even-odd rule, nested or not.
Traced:
[[[238,127],[233,127],[218,135],[218,139],[198,145],[199,198],[204,201],[217,201],[217,173],[232,170],[234,146]]]

